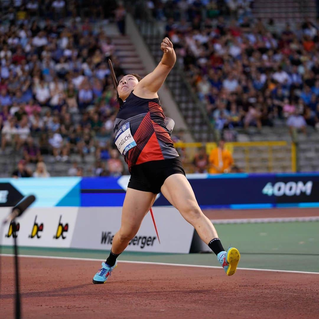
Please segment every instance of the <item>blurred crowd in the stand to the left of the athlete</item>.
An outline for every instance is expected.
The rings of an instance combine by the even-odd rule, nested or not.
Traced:
[[[97,161],[93,174],[122,174],[123,163],[111,143],[118,103],[108,58],[116,74],[124,71],[113,56],[114,45],[93,19],[108,18],[102,16],[104,9],[97,11],[102,1],[86,4],[80,10],[83,17],[78,16],[75,1],[13,3],[9,7],[10,1],[1,2],[2,154],[11,145],[23,155],[18,166],[40,163],[44,171],[43,155],[65,162],[72,153],[82,159],[93,154]],[[123,7],[113,7],[109,18],[117,20]],[[69,173],[81,174],[81,167]]]

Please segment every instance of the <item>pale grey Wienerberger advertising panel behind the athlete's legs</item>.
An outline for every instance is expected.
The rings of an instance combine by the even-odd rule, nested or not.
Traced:
[[[148,213],[126,251],[189,253],[194,227],[174,207],[153,207],[159,240]],[[80,207],[72,248],[107,249],[121,225],[122,207]]]

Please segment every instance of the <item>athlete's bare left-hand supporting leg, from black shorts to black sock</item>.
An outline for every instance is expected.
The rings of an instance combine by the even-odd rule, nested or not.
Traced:
[[[152,207],[156,195],[151,192],[128,188],[126,191],[121,228],[114,235],[112,253],[119,255],[136,235],[146,213]]]

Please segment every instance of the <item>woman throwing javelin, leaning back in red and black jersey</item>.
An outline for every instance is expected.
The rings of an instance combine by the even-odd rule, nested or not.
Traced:
[[[124,156],[131,177],[121,228],[114,235],[111,253],[93,277],[93,284],[106,282],[117,266],[116,258],[136,235],[159,192],[195,227],[228,276],[235,273],[240,259],[236,248],[225,251],[215,227],[199,208],[165,126],[157,91],[173,68],[176,55],[168,38],[163,39],[161,50],[163,57],[153,72],[143,79],[135,74],[125,75],[117,86],[122,101],[114,123],[115,145]]]

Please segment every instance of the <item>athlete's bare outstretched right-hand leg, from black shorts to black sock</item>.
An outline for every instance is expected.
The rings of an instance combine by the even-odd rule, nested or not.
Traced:
[[[209,244],[213,238],[218,237],[214,225],[199,208],[193,189],[183,174],[168,176],[161,192],[181,215],[194,226],[199,237],[206,244]]]

